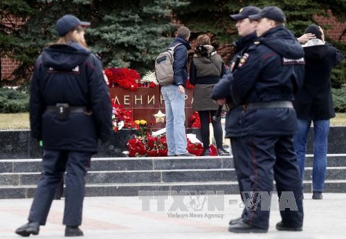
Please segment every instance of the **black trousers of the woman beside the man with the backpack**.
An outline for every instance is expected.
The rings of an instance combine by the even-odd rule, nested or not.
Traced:
[[[201,137],[204,149],[209,149],[209,123],[210,117],[215,115],[216,111],[198,111],[199,119],[201,120]],[[215,142],[217,144],[217,149],[222,148],[222,126],[221,126],[221,117],[217,121],[212,120],[212,130],[214,131]]]

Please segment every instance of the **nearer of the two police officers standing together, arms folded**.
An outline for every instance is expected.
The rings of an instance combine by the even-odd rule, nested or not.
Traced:
[[[304,51],[284,28],[284,12],[266,7],[249,19],[258,20],[257,41],[239,60],[230,82],[232,104],[242,106],[237,150],[237,177],[245,209],[242,220],[230,224],[236,233],[268,231],[273,180],[280,198],[282,221],[277,230],[301,231],[302,187],[293,149],[297,118],[293,95],[304,77]],[[248,160],[251,159],[251,160]]]

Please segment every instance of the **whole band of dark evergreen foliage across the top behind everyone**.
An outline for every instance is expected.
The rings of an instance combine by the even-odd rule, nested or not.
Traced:
[[[127,66],[143,73],[154,68],[155,57],[174,36],[172,19],[192,30],[191,40],[210,33],[212,44],[220,50],[220,44],[230,46],[237,39],[235,22],[229,15],[249,5],[279,6],[286,13],[286,26],[297,37],[314,22],[313,15],[327,16],[327,9],[331,9],[343,20],[346,12],[345,0],[3,0],[1,17],[11,14],[27,21],[23,28],[5,28],[0,23],[1,55],[9,54],[21,61],[15,75],[29,79],[42,48],[58,39],[57,19],[73,14],[91,21],[86,41],[102,57],[105,67]],[[345,53],[345,44],[334,45]],[[333,71],[334,86],[345,82],[345,75],[344,61]]]

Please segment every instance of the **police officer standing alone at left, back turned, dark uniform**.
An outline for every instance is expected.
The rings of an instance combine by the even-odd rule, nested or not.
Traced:
[[[102,64],[85,48],[84,29],[90,25],[73,15],[56,23],[60,39],[48,46],[35,64],[30,92],[30,127],[43,140],[42,176],[37,183],[28,223],[21,236],[37,235],[46,224],[55,190],[66,171],[65,236],[83,236],[85,175],[98,140],[111,135],[111,102]]]

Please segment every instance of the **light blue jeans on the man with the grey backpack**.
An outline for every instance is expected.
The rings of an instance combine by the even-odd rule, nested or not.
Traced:
[[[162,86],[165,99],[167,155],[188,153],[185,133],[185,94],[179,93],[178,86]]]

